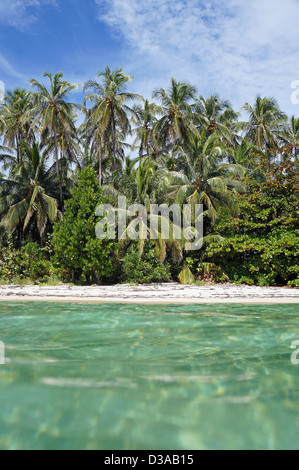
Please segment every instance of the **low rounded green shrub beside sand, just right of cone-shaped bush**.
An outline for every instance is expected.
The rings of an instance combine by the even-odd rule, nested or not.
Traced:
[[[131,246],[122,261],[122,280],[127,283],[149,284],[171,280],[168,264],[160,262],[152,243],[147,243],[142,256]]]

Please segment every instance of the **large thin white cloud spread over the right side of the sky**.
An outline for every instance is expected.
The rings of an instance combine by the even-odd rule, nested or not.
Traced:
[[[143,90],[175,76],[237,106],[261,93],[296,112],[298,0],[95,1],[99,19],[129,45],[126,65],[143,75]]]

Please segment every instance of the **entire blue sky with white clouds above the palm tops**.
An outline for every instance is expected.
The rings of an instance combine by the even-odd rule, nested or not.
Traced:
[[[299,0],[0,0],[0,80],[63,71],[82,84],[108,64],[147,97],[174,76],[237,109],[262,94],[298,116],[298,18]]]

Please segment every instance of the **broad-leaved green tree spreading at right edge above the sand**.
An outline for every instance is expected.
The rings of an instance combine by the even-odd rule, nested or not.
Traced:
[[[240,197],[239,218],[222,213],[217,229],[226,239],[207,247],[206,258],[232,282],[296,286],[299,274],[298,173],[270,165],[267,180]],[[221,275],[217,275],[219,281]]]

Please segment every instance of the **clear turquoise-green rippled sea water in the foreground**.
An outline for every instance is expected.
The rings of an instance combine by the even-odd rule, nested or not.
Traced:
[[[0,304],[0,448],[298,449],[298,313]]]

